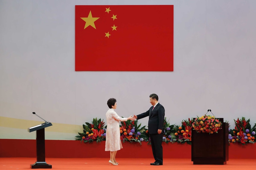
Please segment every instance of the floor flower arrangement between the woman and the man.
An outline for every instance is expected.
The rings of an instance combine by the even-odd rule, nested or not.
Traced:
[[[146,126],[140,127],[141,123],[139,125],[137,123],[138,120],[121,122],[120,138],[123,142],[138,142],[141,145],[141,142],[146,139],[146,135],[142,133]]]

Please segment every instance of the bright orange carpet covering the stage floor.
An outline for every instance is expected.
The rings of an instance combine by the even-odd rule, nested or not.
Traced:
[[[255,169],[256,159],[230,159],[226,165],[193,165],[191,159],[164,159],[162,166],[149,165],[154,162],[151,158],[117,158],[118,166],[109,165],[108,158],[46,158],[46,163],[52,165],[52,169],[58,170],[84,170],[84,169],[138,169],[138,170],[234,170]],[[35,163],[36,158],[0,158],[0,169],[30,169],[30,164]]]

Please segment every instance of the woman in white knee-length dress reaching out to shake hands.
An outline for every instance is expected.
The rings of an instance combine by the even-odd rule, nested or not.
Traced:
[[[116,162],[116,153],[118,150],[122,149],[122,143],[120,140],[120,121],[127,121],[127,120],[135,120],[132,116],[127,118],[122,118],[117,115],[114,111],[116,109],[116,99],[110,98],[108,99],[108,111],[106,113],[107,117],[107,130],[106,130],[106,144],[105,144],[105,151],[110,151],[110,160],[109,163],[113,165],[118,165]]]

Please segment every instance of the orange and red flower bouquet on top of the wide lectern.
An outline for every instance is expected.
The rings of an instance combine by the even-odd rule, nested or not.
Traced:
[[[196,130],[198,133],[218,133],[218,130],[222,127],[222,122],[219,119],[215,118],[215,116],[201,116],[195,118],[192,123],[193,130]]]

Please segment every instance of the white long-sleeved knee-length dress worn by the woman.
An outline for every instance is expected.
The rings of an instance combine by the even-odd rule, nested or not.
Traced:
[[[117,115],[114,109],[108,109],[107,117],[107,131],[105,151],[114,152],[123,148],[120,140],[120,121],[127,121],[127,118],[122,118]]]

